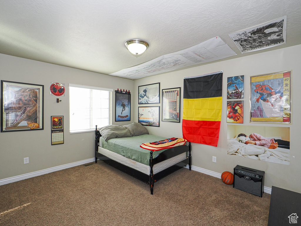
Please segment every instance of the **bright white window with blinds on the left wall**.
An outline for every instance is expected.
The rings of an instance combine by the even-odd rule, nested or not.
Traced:
[[[113,89],[69,84],[70,133],[95,130],[112,124]]]

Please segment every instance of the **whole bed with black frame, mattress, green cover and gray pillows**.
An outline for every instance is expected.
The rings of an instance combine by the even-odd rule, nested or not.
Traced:
[[[155,140],[154,140],[155,139]],[[150,151],[141,148],[142,143],[166,139],[149,135],[139,123],[125,126],[111,125],[95,128],[95,163],[98,159],[150,185],[189,165],[191,170],[191,143],[168,149]]]

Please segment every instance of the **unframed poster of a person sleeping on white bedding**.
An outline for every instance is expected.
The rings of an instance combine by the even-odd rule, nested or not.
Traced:
[[[228,124],[228,155],[290,165],[290,128]]]

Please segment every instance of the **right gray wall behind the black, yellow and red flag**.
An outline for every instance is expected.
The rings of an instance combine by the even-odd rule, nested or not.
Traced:
[[[138,86],[160,82],[160,89],[181,87],[183,90],[183,78],[186,76],[196,76],[216,71],[223,71],[223,95],[222,95],[222,118],[217,147],[192,143],[192,165],[206,170],[222,173],[224,171],[233,172],[236,165],[243,165],[265,171],[266,187],[281,187],[296,192],[301,192],[300,160],[301,151],[298,140],[301,128],[299,117],[301,101],[299,99],[299,86],[301,85],[301,45],[269,52],[254,54],[241,58],[216,62],[212,64],[192,67],[185,70],[165,73],[157,76],[147,77],[134,81],[134,94],[138,95]],[[292,124],[262,124],[250,123],[249,120],[249,97],[250,97],[250,76],[268,74],[279,71],[292,70]],[[260,160],[246,159],[239,156],[227,155],[227,77],[244,75],[244,125],[290,127],[290,165],[283,165]],[[181,112],[183,106],[183,92],[181,92]],[[160,100],[160,106],[162,107]],[[135,119],[138,118],[138,103],[132,104],[135,108]],[[144,106],[144,105],[139,105]],[[154,105],[155,106],[155,105]],[[161,109],[161,108],[160,108]],[[182,116],[181,123],[160,122],[160,128],[147,127],[152,134],[164,137],[182,136]],[[216,156],[217,162],[212,162],[212,156]]]

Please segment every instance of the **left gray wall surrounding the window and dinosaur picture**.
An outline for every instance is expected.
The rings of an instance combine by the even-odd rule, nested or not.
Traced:
[[[44,85],[44,130],[0,133],[0,179],[94,157],[94,132],[69,132],[69,83],[133,89],[133,81],[0,54],[0,79]],[[50,82],[65,83],[65,96],[50,96]],[[113,105],[115,95],[113,94]],[[80,103],[79,103],[80,104]],[[113,107],[115,115],[115,107]],[[51,115],[64,115],[64,144],[51,146]],[[129,124],[131,122],[113,124]],[[29,157],[29,164],[23,158]]]

